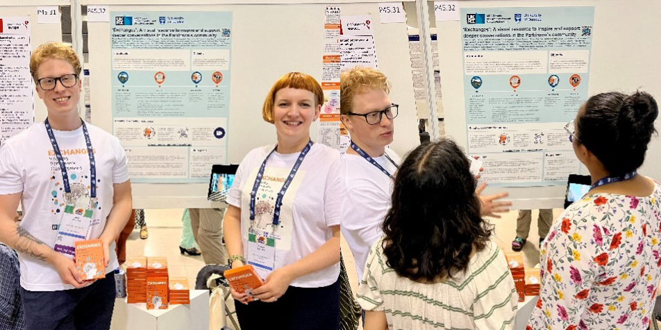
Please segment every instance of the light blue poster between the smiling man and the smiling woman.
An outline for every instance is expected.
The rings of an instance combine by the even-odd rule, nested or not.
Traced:
[[[227,159],[231,12],[111,12],[112,130],[133,182],[208,182]]]

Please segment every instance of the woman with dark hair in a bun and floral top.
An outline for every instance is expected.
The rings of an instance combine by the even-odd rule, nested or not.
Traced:
[[[647,329],[661,280],[661,186],[637,174],[655,132],[645,92],[592,96],[566,129],[592,189],[542,246],[542,288],[526,329]]]

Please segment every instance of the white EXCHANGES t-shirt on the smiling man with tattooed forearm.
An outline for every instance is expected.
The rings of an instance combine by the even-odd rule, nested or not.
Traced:
[[[90,239],[99,238],[112,209],[113,184],[128,180],[124,148],[116,137],[89,123],[90,141],[97,168],[98,205],[94,209]],[[90,159],[83,127],[72,131],[53,130],[65,159],[69,185],[77,194],[90,193]],[[8,139],[0,146],[0,194],[23,193],[24,217],[20,225],[53,248],[65,207],[65,189],[58,159],[53,152],[44,123]],[[74,288],[62,283],[51,264],[19,253],[21,286],[31,291],[58,291]],[[115,243],[110,245],[106,274],[119,267]]]

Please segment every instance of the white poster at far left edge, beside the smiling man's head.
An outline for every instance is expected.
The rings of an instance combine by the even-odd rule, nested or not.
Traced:
[[[0,144],[35,121],[30,19],[0,17]]]

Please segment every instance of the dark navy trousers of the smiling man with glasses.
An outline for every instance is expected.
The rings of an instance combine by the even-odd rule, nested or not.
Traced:
[[[26,330],[107,330],[115,308],[112,272],[90,286],[62,291],[21,289]]]

